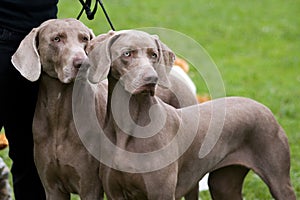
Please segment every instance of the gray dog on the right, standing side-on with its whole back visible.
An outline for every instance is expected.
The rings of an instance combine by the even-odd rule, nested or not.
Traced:
[[[168,86],[175,56],[145,32],[117,32],[90,55],[98,59],[89,80],[108,73],[110,142],[101,151],[111,160],[100,167],[108,199],[180,199],[208,172],[213,199],[242,199],[249,170],[275,199],[296,199],[288,140],[267,107],[242,97],[183,109],[163,103],[156,86]]]

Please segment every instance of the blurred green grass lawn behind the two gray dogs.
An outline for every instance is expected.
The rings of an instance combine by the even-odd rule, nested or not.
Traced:
[[[268,106],[287,132],[292,184],[300,198],[300,0],[104,0],[104,5],[117,30],[163,27],[193,38],[218,67],[227,96]],[[80,9],[79,2],[63,0],[58,16],[76,18]],[[96,35],[110,29],[100,7],[93,21],[85,14],[81,21]],[[192,68],[189,73],[198,93],[209,93],[198,72]],[[272,199],[253,173],[243,194],[245,199]],[[200,197],[210,199],[208,192]]]

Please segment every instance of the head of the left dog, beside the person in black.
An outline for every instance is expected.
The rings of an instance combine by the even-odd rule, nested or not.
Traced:
[[[23,39],[12,63],[30,81],[36,81],[43,70],[62,83],[70,83],[87,58],[85,48],[93,37],[76,19],[48,20]]]

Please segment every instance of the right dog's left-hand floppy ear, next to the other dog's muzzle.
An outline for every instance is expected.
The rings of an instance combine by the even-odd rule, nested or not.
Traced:
[[[111,61],[110,47],[119,35],[113,35],[102,42],[97,43],[89,52],[89,75],[91,83],[99,83],[105,79],[109,73]]]

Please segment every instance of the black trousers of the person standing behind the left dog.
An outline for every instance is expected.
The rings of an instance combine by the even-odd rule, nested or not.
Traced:
[[[24,37],[0,28],[0,129],[4,127],[9,141],[16,200],[43,200],[45,192],[34,164],[32,138],[38,82],[23,78],[11,63]]]

